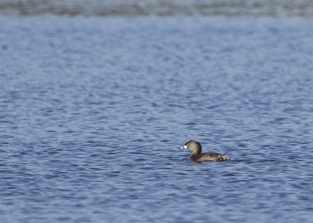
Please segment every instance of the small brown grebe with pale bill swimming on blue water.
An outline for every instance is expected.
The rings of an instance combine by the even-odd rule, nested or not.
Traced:
[[[184,146],[181,147],[181,149],[190,149],[192,150],[192,154],[189,156],[188,160],[192,162],[202,162],[206,160],[211,161],[217,161],[217,162],[223,162],[230,160],[229,156],[226,154],[220,154],[217,152],[204,152],[201,153],[202,147],[201,144],[197,141],[190,140],[186,142]]]

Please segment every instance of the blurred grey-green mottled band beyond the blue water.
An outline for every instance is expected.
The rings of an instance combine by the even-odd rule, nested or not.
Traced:
[[[0,0],[0,15],[313,17],[313,1]]]

